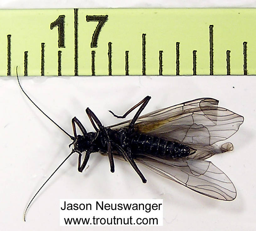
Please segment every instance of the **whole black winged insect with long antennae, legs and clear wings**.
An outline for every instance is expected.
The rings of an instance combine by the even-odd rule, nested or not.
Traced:
[[[23,89],[22,91],[24,92]],[[29,98],[25,92],[24,94]],[[115,171],[115,157],[128,161],[143,183],[147,180],[136,163],[206,196],[233,200],[236,197],[236,189],[232,181],[205,159],[216,153],[233,149],[232,143],[224,143],[219,147],[216,142],[226,140],[237,132],[243,123],[243,116],[218,107],[218,100],[211,98],[195,99],[140,116],[150,98],[150,96],[145,97],[123,116],[117,116],[110,111],[117,118],[125,118],[140,106],[132,120],[108,127],[103,126],[96,115],[87,108],[86,113],[95,132],[87,132],[82,123],[74,117],[72,119],[74,136],[64,131],[29,98],[73,141],[69,145],[69,147],[73,146],[72,152],[53,174],[73,153],[78,153],[78,171],[82,172],[90,154],[101,152],[108,156],[111,172]],[[76,126],[79,127],[82,135],[77,135]],[[84,157],[83,152],[85,152]]]

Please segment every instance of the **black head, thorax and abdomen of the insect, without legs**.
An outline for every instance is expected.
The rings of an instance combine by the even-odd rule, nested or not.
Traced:
[[[111,145],[121,147],[126,153],[131,153],[131,157],[136,157],[137,154],[147,153],[160,158],[182,158],[191,154],[194,149],[189,146],[168,141],[163,138],[150,136],[135,132],[134,129],[121,128],[112,130],[105,128]],[[91,152],[108,152],[108,144],[106,134],[99,131],[96,137],[96,132],[89,132],[84,136],[78,135],[72,143],[74,150],[77,153],[82,153],[91,149]],[[113,150],[114,151],[114,150]],[[116,152],[119,154],[119,152]]]

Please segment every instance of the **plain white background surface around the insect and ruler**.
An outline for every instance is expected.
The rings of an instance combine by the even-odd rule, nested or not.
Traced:
[[[3,1],[1,8],[85,7],[256,7],[255,1]],[[103,2],[103,1],[102,1]],[[154,3],[157,2],[157,3]],[[220,106],[243,115],[245,121],[229,141],[234,151],[211,161],[223,170],[237,189],[234,201],[217,201],[195,193],[141,167],[147,178],[142,184],[124,161],[92,154],[89,167],[77,171],[74,154],[23,212],[47,177],[70,153],[69,137],[63,134],[24,97],[14,77],[0,77],[2,230],[81,230],[59,226],[59,199],[151,199],[163,198],[163,227],[135,230],[254,230],[255,229],[255,76],[212,77],[26,77],[22,85],[31,98],[67,132],[77,116],[92,131],[85,109],[89,107],[104,125],[116,123],[108,110],[123,114],[146,95],[152,96],[145,113],[187,100],[212,97]],[[233,88],[234,87],[234,88]],[[131,115],[132,116],[132,115]],[[131,117],[129,117],[131,118]],[[128,119],[129,119],[128,118]],[[88,227],[86,230],[120,230],[120,227]],[[131,227],[122,227],[131,230]]]

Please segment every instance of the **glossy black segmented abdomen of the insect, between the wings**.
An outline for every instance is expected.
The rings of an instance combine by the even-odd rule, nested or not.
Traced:
[[[165,158],[181,158],[190,154],[190,148],[187,145],[146,134],[133,136],[131,148],[133,153],[147,153]]]

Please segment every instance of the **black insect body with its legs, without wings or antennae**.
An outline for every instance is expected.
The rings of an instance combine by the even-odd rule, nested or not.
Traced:
[[[147,135],[139,132],[135,126],[135,123],[141,111],[145,108],[150,99],[150,96],[145,97],[143,100],[141,100],[141,102],[128,110],[123,116],[117,116],[110,111],[114,116],[124,118],[132,110],[141,105],[134,118],[129,122],[129,125],[120,129],[112,129],[111,127],[103,126],[96,115],[89,108],[86,109],[86,113],[96,132],[87,133],[86,129],[76,117],[72,119],[74,132],[74,138],[72,138],[74,139],[74,142],[72,142],[74,148],[72,152],[79,154],[79,172],[82,172],[85,168],[90,154],[98,151],[108,154],[110,171],[114,172],[115,168],[113,153],[116,153],[117,155],[123,156],[125,160],[129,161],[131,166],[141,177],[142,182],[146,183],[147,180],[134,161],[134,159],[141,153],[150,154],[159,158],[183,158],[195,153],[195,149],[191,149],[189,146],[182,143],[168,141],[157,136]],[[98,127],[95,125],[95,123]],[[77,136],[76,124],[83,133],[83,136]],[[86,152],[83,162],[82,152]]]

